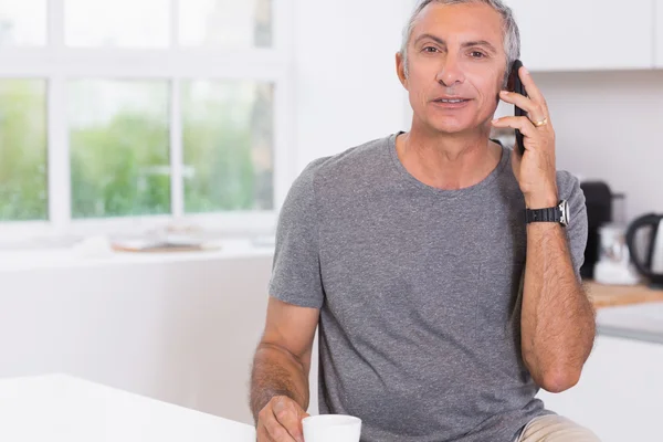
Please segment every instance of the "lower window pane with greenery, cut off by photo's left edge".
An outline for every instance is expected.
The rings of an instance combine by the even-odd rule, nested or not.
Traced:
[[[45,220],[46,83],[0,80],[0,221]]]

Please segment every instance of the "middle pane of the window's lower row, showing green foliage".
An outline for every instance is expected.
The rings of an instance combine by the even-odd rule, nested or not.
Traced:
[[[70,85],[72,217],[170,212],[168,83]]]

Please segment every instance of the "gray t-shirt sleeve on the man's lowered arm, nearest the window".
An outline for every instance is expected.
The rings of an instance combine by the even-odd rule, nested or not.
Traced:
[[[269,293],[288,304],[322,308],[324,301],[314,191],[316,160],[290,189],[276,228]]]

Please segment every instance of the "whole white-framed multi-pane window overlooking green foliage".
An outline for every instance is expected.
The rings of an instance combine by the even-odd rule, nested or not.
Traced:
[[[269,214],[291,0],[0,0],[0,228]]]

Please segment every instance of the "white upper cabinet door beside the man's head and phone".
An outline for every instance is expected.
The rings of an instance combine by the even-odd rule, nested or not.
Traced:
[[[533,71],[650,69],[654,1],[506,0]],[[663,21],[661,21],[663,23]]]

